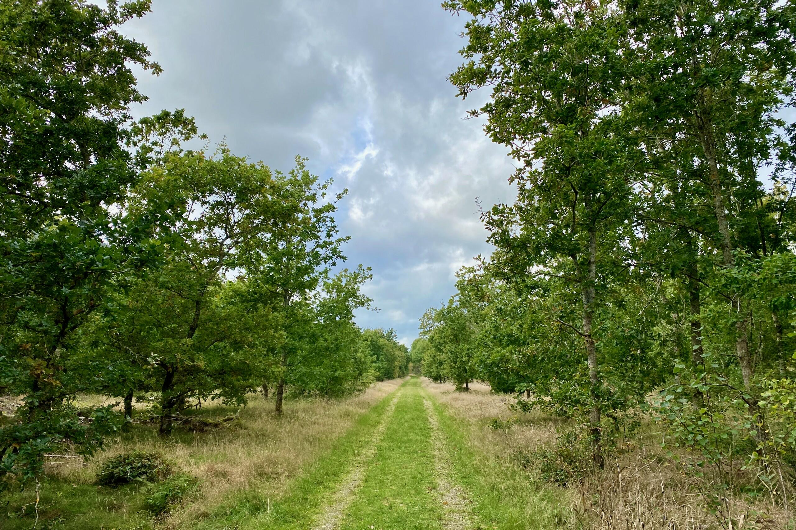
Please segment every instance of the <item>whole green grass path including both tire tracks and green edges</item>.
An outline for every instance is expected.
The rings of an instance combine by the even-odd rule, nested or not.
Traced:
[[[272,504],[252,497],[203,521],[213,530],[571,528],[552,489],[478,455],[477,435],[412,377],[366,413]]]

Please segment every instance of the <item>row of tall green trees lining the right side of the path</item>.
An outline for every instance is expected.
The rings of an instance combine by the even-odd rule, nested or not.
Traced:
[[[796,462],[792,2],[444,6],[472,17],[451,81],[489,87],[472,114],[519,167],[423,373],[529,391],[598,466],[650,407],[703,462]]]

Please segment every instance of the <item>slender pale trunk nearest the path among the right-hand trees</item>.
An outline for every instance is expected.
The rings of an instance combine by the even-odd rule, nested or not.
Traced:
[[[583,284],[583,339],[586,341],[586,355],[589,366],[589,382],[591,389],[591,414],[589,415],[589,431],[591,434],[591,460],[595,466],[603,467],[603,443],[600,430],[602,411],[599,404],[599,367],[597,366],[597,347],[591,336],[593,304],[595,300],[595,282],[597,280],[597,230],[589,230],[588,273]]]

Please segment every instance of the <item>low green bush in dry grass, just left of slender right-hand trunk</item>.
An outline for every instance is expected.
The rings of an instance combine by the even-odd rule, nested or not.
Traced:
[[[533,454],[538,462],[541,478],[558,486],[569,486],[583,481],[590,465],[590,453],[585,436],[578,431],[566,431],[556,447],[542,449]]]

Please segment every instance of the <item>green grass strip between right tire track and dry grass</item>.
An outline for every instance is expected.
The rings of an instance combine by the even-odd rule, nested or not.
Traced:
[[[472,511],[482,528],[579,528],[576,517],[560,489],[534,482],[508,458],[494,458],[472,449],[471,436],[478,431],[462,422],[431,399],[447,443],[455,478],[470,493]]]

